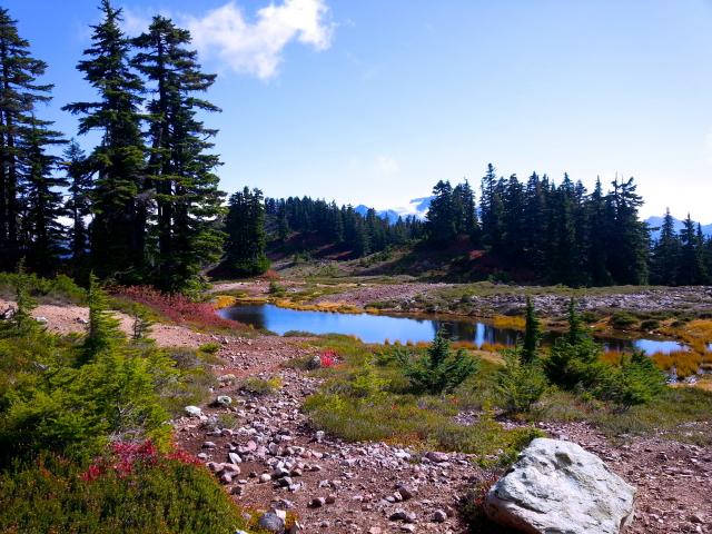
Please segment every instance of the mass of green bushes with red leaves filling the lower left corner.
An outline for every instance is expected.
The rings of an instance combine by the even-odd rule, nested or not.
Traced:
[[[245,527],[215,477],[171,444],[171,408],[207,376],[198,354],[159,349],[140,317],[123,335],[93,278],[86,336],[50,334],[31,317],[34,280],[13,275],[17,310],[0,320],[0,532]]]

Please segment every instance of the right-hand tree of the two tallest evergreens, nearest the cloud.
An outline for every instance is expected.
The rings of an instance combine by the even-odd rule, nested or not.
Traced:
[[[150,157],[146,187],[155,191],[158,220],[156,285],[168,291],[190,286],[208,263],[219,258],[222,235],[215,219],[224,194],[215,168],[220,165],[209,141],[216,130],[198,112],[219,111],[198,95],[215,75],[200,71],[190,33],[165,17],[155,17],[134,41],[140,52],[132,65],[146,76],[155,98],[148,103]]]

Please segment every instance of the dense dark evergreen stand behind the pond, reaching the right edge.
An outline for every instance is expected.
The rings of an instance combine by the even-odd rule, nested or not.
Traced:
[[[447,246],[468,235],[505,265],[530,270],[538,280],[571,286],[695,285],[710,281],[712,240],[690,220],[680,236],[668,212],[661,237],[651,241],[640,220],[643,199],[633,178],[589,192],[564,175],[556,185],[532,174],[497,177],[490,165],[481,182],[479,206],[466,181],[439,181],[425,225],[426,239]]]

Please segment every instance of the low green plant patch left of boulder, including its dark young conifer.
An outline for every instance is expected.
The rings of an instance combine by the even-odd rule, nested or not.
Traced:
[[[461,451],[487,464],[512,459],[538,435],[534,428],[502,427],[492,411],[471,425],[455,421],[458,397],[482,363],[453,350],[443,336],[429,347],[368,347],[346,336],[317,344],[338,353],[339,365],[323,368],[326,384],[304,409],[315,426],[347,441]]]

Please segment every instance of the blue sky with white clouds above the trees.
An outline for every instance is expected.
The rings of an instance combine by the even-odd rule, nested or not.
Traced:
[[[116,0],[194,30],[224,112],[222,188],[378,208],[438,179],[634,176],[643,215],[712,221],[710,0]],[[98,0],[4,0],[57,85],[47,115],[90,98],[75,70]],[[90,139],[86,140],[87,148]]]

